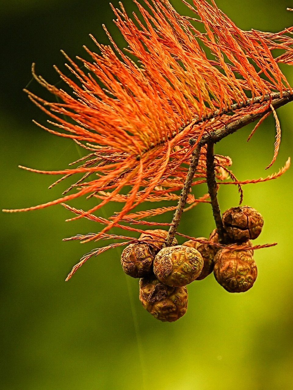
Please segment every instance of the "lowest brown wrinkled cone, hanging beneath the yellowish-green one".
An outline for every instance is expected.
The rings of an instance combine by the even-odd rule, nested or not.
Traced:
[[[160,321],[173,322],[184,316],[187,298],[186,287],[170,287],[155,277],[139,280],[139,300]]]

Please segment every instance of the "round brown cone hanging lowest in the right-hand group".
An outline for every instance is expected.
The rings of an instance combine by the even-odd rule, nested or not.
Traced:
[[[229,293],[242,293],[253,286],[257,267],[249,250],[221,249],[214,263],[214,277]]]

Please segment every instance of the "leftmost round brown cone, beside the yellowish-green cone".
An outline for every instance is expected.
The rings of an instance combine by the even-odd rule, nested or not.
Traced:
[[[147,244],[129,244],[121,254],[123,271],[132,278],[143,278],[152,272],[154,257]]]

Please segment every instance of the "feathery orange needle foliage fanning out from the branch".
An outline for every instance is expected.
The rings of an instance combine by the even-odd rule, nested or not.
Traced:
[[[56,68],[73,94],[47,83],[36,75],[34,67],[36,80],[61,103],[45,101],[27,91],[53,125],[38,126],[73,139],[89,154],[76,162],[81,163],[76,168],[43,171],[22,167],[32,172],[63,175],[53,185],[69,176],[82,177],[60,199],[9,211],[41,209],[83,195],[94,196],[98,203],[88,211],[66,206],[77,215],[75,218],[86,217],[105,225],[98,234],[76,236],[81,240],[105,239],[113,226],[139,232],[129,224],[151,224],[140,218],[174,209],[158,207],[131,213],[145,201],[178,199],[177,191],[183,187],[191,154],[202,137],[247,114],[265,112],[276,92],[279,97],[291,94],[278,62],[293,64],[293,28],[277,34],[243,31],[213,0],[212,4],[193,0],[193,5],[183,0],[194,12],[194,18],[178,14],[168,0],[144,0],[144,6],[133,1],[141,15],[134,14],[132,19],[122,4],[120,9],[112,7],[115,23],[128,43],[125,51],[118,48],[105,28],[111,46],[101,45],[92,37],[99,53],[85,48],[93,62],[78,58],[80,67],[64,54],[75,81]],[[204,32],[200,32],[202,27]],[[282,50],[277,58],[272,54],[275,49]],[[272,110],[277,121],[273,163],[280,144],[280,126],[273,106]],[[196,142],[189,143],[191,139]],[[206,181],[204,149],[193,185]],[[227,168],[230,165],[229,158],[216,156],[216,176],[220,181],[230,177],[232,182],[223,183],[237,184],[242,197],[241,184],[252,181],[238,181]],[[280,172],[260,181],[273,179]],[[126,186],[130,190],[121,195]],[[124,203],[120,213],[109,219],[96,217],[94,213],[110,201]],[[207,195],[194,199],[190,194],[188,198],[191,206],[207,201]],[[129,224],[121,225],[122,221]],[[89,257],[86,255],[83,261]]]

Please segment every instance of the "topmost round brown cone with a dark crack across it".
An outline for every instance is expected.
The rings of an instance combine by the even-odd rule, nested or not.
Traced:
[[[234,241],[255,239],[263,228],[263,217],[249,206],[232,207],[222,216],[224,229]]]

